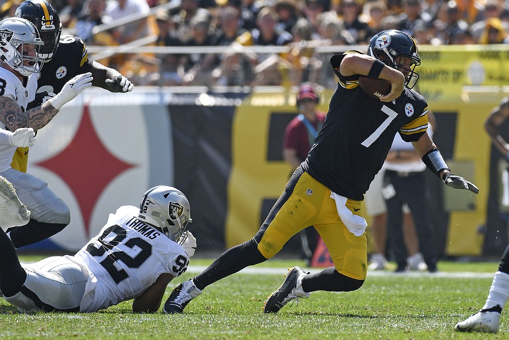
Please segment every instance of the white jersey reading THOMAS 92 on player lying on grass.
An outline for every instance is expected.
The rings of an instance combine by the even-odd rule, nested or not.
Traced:
[[[121,206],[74,256],[88,268],[79,310],[93,312],[141,295],[162,273],[177,277],[189,264],[184,248],[137,219],[139,210]]]

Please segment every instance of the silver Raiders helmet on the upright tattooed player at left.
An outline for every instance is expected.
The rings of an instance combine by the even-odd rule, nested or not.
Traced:
[[[39,56],[39,49],[43,44],[35,25],[29,20],[7,18],[0,21],[0,60],[22,76],[41,71],[43,58]],[[36,55],[26,55],[24,45],[33,45]]]

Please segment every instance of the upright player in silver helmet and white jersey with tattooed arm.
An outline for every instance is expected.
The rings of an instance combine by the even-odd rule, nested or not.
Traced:
[[[0,21],[0,45],[0,123],[2,128],[14,132],[10,145],[0,145],[0,175],[14,185],[20,200],[31,210],[30,221],[10,233],[14,245],[21,247],[61,231],[70,222],[70,212],[46,182],[11,168],[16,146],[26,146],[13,143],[14,135],[19,128],[32,128],[37,132],[65,103],[92,86],[93,79],[90,72],[77,75],[42,106],[27,110],[27,104],[35,97],[37,73],[44,60],[38,56],[43,41],[29,20],[8,18]],[[10,226],[13,225],[5,221],[2,225],[4,229]]]

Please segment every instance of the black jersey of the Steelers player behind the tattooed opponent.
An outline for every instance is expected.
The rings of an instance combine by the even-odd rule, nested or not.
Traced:
[[[59,93],[67,81],[89,72],[91,68],[92,62],[89,61],[87,46],[83,41],[72,35],[62,36],[53,59],[42,67],[37,92]]]

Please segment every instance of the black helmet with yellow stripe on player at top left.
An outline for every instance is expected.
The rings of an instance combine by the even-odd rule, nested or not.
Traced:
[[[27,19],[37,27],[44,41],[39,56],[44,58],[45,62],[50,61],[59,47],[62,34],[62,23],[58,12],[47,1],[29,0],[19,5],[14,16]]]

